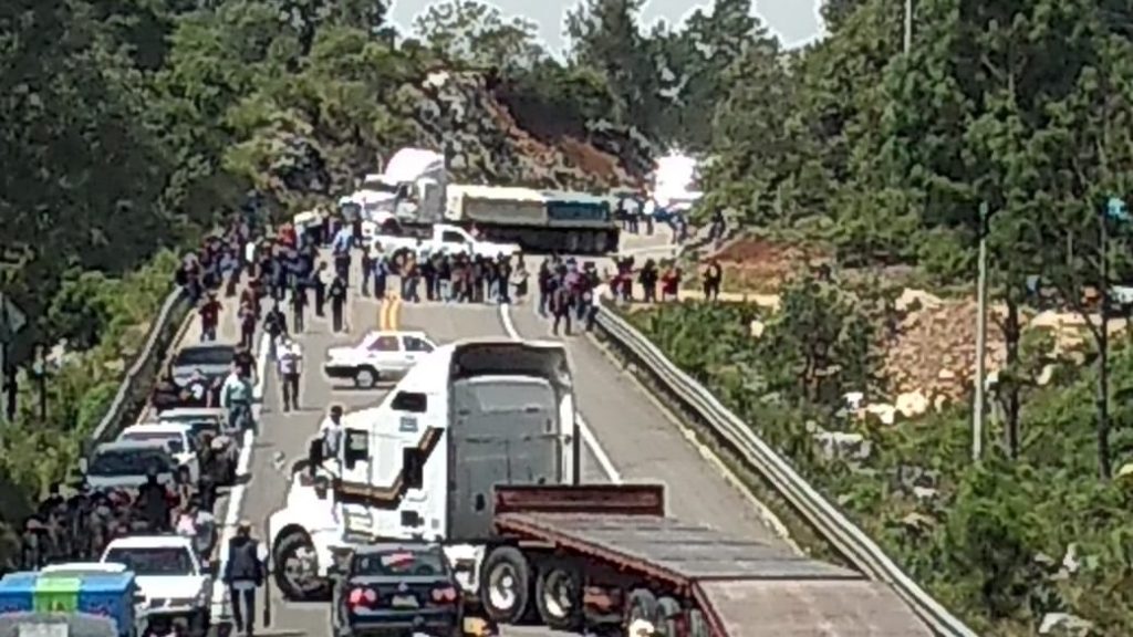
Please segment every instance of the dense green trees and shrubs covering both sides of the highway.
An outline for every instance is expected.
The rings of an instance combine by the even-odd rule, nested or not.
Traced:
[[[1096,416],[1093,376],[1068,380],[1060,394],[1032,391],[1017,325],[1037,274],[1076,307],[1088,288],[1106,288],[1106,271],[1128,272],[1124,218],[1107,221],[1105,211],[1130,194],[1133,175],[1133,6],[918,0],[906,50],[897,3],[828,0],[828,36],[784,50],[750,0],[716,0],[680,28],[650,29],[639,27],[644,1],[582,0],[565,22],[562,56],[540,46],[534,25],[474,1],[429,7],[412,33],[386,24],[380,0],[0,7],[0,291],[31,318],[10,351],[24,400],[2,431],[0,469],[19,487],[5,490],[2,516],[18,516],[18,500],[71,466],[168,290],[173,255],[247,206],[253,190],[282,218],[340,194],[391,148],[431,143],[415,87],[445,69],[480,77],[531,135],[585,137],[630,172],[642,162],[628,160],[630,142],[612,142],[611,130],[655,152],[708,158],[699,213],[723,209],[743,226],[821,244],[846,270],[911,267],[966,286],[986,237],[1013,343],[1003,374],[1014,396],[1007,442],[995,456],[1006,465],[964,473],[962,431],[943,424],[891,441],[883,468],[903,465],[911,448],[943,449],[948,459],[921,458],[944,475],[942,490],[978,495],[945,504],[959,513],[940,518],[947,532],[932,532],[932,542],[892,530],[885,516],[896,513],[876,510],[886,489],[846,478],[857,491],[843,503],[893,535],[887,546],[981,629],[1031,634],[1042,614],[1074,611],[1101,634],[1133,630],[1128,528],[1115,521],[1127,518],[1128,501],[1108,481],[1128,447],[1128,414],[1118,405]],[[488,154],[502,162],[511,152]],[[736,341],[735,325],[750,316],[723,309],[685,308],[727,336],[693,347],[696,356],[680,351],[704,338],[682,331],[689,316],[642,326],[734,404],[766,409],[752,396],[770,392],[817,417],[821,401],[793,394],[793,377],[766,377],[802,356],[808,338],[792,325],[828,331],[824,360],[872,382],[869,328],[834,317],[862,304],[844,290],[816,291],[824,284],[798,283],[789,306],[798,321],[769,324],[783,337],[774,350]],[[45,372],[41,414],[32,350],[62,340],[71,356]],[[1117,390],[1128,365],[1117,356]],[[773,416],[764,422],[782,425],[776,440],[793,449],[787,434],[800,414]],[[1057,442],[1038,433],[1056,430],[1076,433]],[[1045,462],[1039,478],[1034,462]],[[1000,502],[1004,493],[1012,496]],[[1075,519],[1057,520],[1059,510]],[[1087,581],[1047,577],[1037,557],[1077,541],[1093,551]]]

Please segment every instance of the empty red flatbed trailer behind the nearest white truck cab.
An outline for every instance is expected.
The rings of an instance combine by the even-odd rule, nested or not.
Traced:
[[[668,518],[664,500],[661,485],[496,487],[485,610],[508,623],[534,606],[559,630],[645,619],[666,637],[932,635],[885,584]],[[501,570],[520,594],[508,608],[492,602]]]

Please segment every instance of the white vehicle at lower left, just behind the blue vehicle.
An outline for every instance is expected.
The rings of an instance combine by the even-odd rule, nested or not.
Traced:
[[[208,630],[212,576],[197,558],[193,540],[179,535],[135,535],[114,540],[102,562],[134,571],[146,613],[185,618],[191,635]]]

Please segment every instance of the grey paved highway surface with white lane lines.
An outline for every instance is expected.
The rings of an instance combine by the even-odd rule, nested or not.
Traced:
[[[634,241],[637,239],[637,241]],[[647,254],[665,241],[631,237],[627,246]],[[534,312],[530,300],[516,307],[491,305],[407,304],[401,306],[399,326],[419,329],[438,342],[475,337],[554,338],[548,325]],[[289,461],[306,452],[307,440],[315,434],[326,407],[338,402],[348,409],[377,405],[383,391],[359,391],[332,387],[321,368],[329,347],[356,342],[380,323],[381,304],[351,295],[350,334],[333,334],[327,321],[308,320],[307,331],[298,337],[306,357],[303,376],[303,409],[283,413],[279,385],[273,373],[265,374],[264,406],[259,434],[252,447],[252,477],[246,487],[231,498],[236,509],[222,510],[223,519],[248,519],[266,533],[266,518],[284,499],[287,478],[275,468],[273,457],[283,453]],[[672,512],[753,538],[777,543],[780,540],[761,521],[758,508],[735,489],[690,444],[679,427],[657,405],[598,349],[588,337],[566,338],[576,380],[576,401],[587,442],[583,477],[589,482],[665,482]],[[284,470],[287,470],[284,468]],[[225,504],[227,507],[227,504]],[[309,637],[329,635],[325,604],[288,603],[273,594],[271,631]],[[509,635],[561,635],[542,628],[508,629]]]

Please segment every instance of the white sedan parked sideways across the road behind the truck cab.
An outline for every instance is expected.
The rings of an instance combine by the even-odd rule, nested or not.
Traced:
[[[375,330],[357,345],[326,351],[323,372],[331,379],[352,380],[359,388],[404,375],[421,356],[436,349],[425,332]]]

